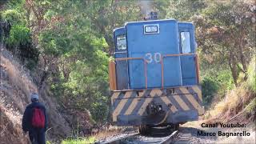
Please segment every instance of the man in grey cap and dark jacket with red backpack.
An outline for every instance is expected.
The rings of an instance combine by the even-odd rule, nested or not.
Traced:
[[[31,103],[26,106],[22,118],[23,133],[26,134],[29,131],[32,144],[45,144],[47,127],[46,108],[41,102],[38,102],[38,94],[31,94],[30,100]]]

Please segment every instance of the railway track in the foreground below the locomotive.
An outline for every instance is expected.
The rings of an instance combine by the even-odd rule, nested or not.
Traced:
[[[169,132],[170,133],[170,132]],[[134,133],[128,134],[121,138],[115,138],[108,142],[96,142],[97,144],[144,144],[144,143],[156,143],[156,144],[169,144],[173,143],[175,136],[178,134],[178,130],[170,134],[150,134],[147,136]]]

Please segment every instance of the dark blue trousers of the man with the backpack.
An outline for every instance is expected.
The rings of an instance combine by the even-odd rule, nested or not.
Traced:
[[[46,144],[46,134],[42,129],[33,129],[29,132],[32,144]]]

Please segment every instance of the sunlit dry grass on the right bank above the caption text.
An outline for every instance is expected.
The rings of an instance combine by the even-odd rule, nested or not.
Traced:
[[[244,80],[244,76],[240,78],[238,87],[230,90],[226,97],[218,102],[205,114],[205,119],[208,118],[222,118],[228,120],[234,115],[245,111],[246,106],[256,98],[256,67],[255,59],[252,58],[250,65],[248,66],[248,78]],[[254,110],[255,106],[251,104],[250,111]],[[254,113],[251,113],[254,115]],[[255,120],[255,119],[254,119]]]

